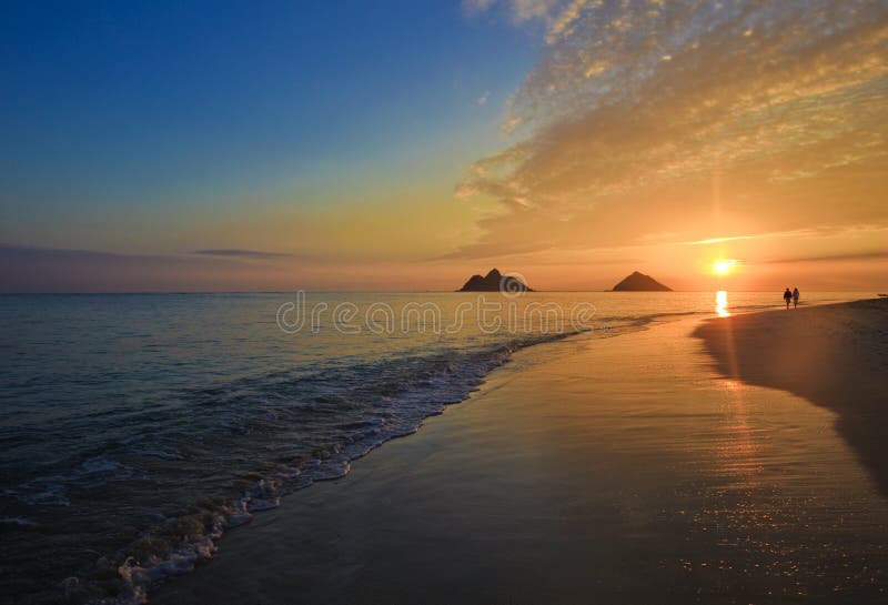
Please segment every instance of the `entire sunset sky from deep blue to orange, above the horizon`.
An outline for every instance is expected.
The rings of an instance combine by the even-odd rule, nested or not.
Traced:
[[[888,290],[884,2],[6,3],[0,73],[4,292]]]

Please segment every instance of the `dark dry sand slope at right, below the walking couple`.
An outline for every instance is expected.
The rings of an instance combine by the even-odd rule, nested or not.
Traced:
[[[702,339],[717,370],[829,409],[888,495],[888,299],[718,317]]]

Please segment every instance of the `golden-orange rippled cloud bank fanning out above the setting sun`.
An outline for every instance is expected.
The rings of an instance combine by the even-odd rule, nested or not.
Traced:
[[[457,188],[500,211],[452,256],[888,226],[888,4],[500,7],[547,50],[507,103],[516,142]]]

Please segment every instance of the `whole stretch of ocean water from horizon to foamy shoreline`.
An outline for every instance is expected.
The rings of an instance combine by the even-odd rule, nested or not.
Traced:
[[[0,594],[144,602],[519,347],[775,306],[779,292],[0,296]]]

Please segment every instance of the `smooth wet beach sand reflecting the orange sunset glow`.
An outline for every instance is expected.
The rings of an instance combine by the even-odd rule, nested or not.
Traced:
[[[888,502],[835,428],[839,403],[724,377],[707,354],[724,359],[727,325],[753,343],[754,322],[818,313],[836,311],[523,350],[418,435],[258,515],[151,601],[884,603]],[[755,382],[777,386],[767,376]]]

